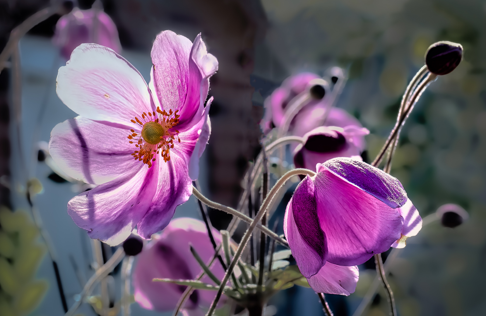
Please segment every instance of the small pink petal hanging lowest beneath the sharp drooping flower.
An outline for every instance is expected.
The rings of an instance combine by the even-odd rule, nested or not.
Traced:
[[[319,272],[308,278],[307,281],[317,293],[348,296],[356,289],[358,278],[357,266],[338,266],[326,262]]]

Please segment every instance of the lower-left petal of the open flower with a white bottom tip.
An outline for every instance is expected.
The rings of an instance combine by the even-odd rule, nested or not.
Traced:
[[[124,241],[147,213],[156,192],[158,163],[137,163],[127,173],[68,202],[74,223],[110,246]]]

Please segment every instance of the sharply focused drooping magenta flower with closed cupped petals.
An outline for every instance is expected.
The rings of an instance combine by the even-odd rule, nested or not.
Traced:
[[[351,158],[317,165],[287,205],[284,233],[302,275],[316,292],[349,295],[356,265],[405,246],[422,218],[401,183]]]

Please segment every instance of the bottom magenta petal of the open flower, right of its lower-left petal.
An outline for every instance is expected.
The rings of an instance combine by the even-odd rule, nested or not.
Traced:
[[[164,229],[174,216],[177,205],[189,200],[192,194],[188,166],[182,157],[171,150],[171,160],[166,163],[162,159],[157,161],[157,191],[148,211],[137,226],[137,233],[145,239],[150,239],[153,233]]]

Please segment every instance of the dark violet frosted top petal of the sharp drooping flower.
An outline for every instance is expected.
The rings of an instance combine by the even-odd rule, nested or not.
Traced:
[[[317,167],[330,170],[339,178],[371,194],[392,208],[407,201],[407,193],[397,178],[374,166],[350,158],[335,158]]]

